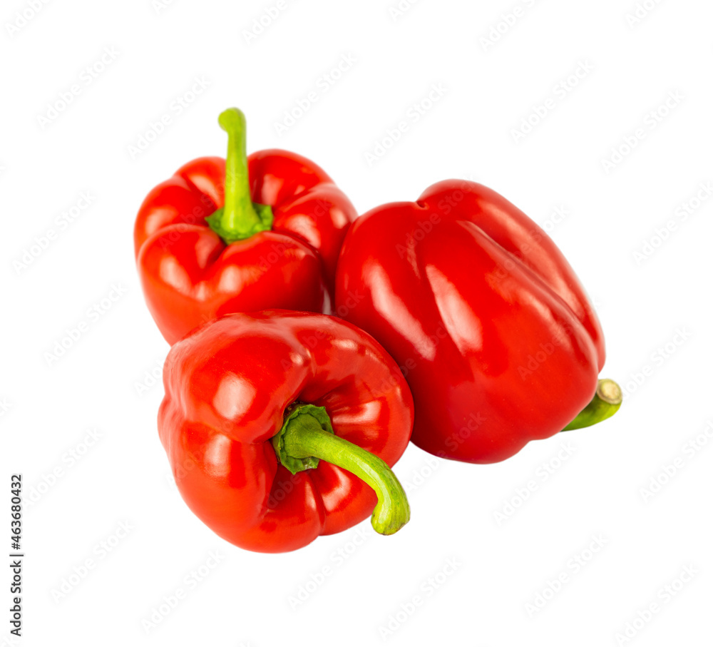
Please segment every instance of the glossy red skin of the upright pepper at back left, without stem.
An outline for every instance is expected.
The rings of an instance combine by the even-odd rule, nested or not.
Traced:
[[[227,312],[331,312],[334,272],[356,210],[324,170],[286,151],[248,157],[254,203],[272,230],[225,245],[205,222],[224,202],[225,160],[198,158],[145,198],[134,248],[153,319],[173,344]]]

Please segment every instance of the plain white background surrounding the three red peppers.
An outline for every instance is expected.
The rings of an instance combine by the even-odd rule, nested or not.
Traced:
[[[710,644],[713,200],[685,220],[676,213],[713,180],[711,4],[647,0],[652,9],[630,24],[635,0],[420,0],[400,16],[389,11],[396,0],[286,0],[248,43],[245,30],[276,1],[51,1],[19,31],[8,25],[28,1],[2,3],[4,551],[9,475],[24,474],[26,496],[39,499],[24,507],[19,644],[364,645],[383,641],[390,616],[394,645]],[[498,23],[503,33],[486,43]],[[112,47],[118,56],[87,84],[83,70]],[[324,91],[319,78],[349,55],[356,63]],[[567,93],[555,90],[583,62],[593,69]],[[178,114],[170,106],[196,77],[207,88]],[[72,103],[40,120],[75,83]],[[434,83],[443,96],[414,122],[409,110]],[[318,100],[277,133],[284,111],[312,91]],[[650,113],[670,93],[682,98],[657,121]],[[548,98],[553,109],[515,141],[513,129]],[[437,180],[471,178],[546,225],[600,313],[602,375],[629,384],[621,411],[490,466],[430,470],[428,455],[409,447],[395,471],[412,521],[396,536],[376,536],[364,521],[292,554],[263,555],[212,534],[170,483],[155,425],[160,383],[138,393],[168,347],[143,302],[132,230],[153,185],[192,158],[225,153],[216,118],[233,105],[247,114],[249,151],[314,159],[360,212],[415,200]],[[170,125],[132,156],[129,147],[167,113]],[[365,153],[404,120],[408,131],[369,164]],[[645,137],[605,169],[637,128]],[[85,192],[91,205],[61,229],[56,219]],[[558,207],[568,215],[555,224]],[[676,229],[637,260],[668,220]],[[56,236],[46,249],[33,248],[48,230]],[[113,285],[125,294],[90,316]],[[48,365],[46,352],[81,321],[88,332]],[[88,429],[98,440],[87,448]],[[570,455],[543,481],[563,443]],[[675,461],[645,501],[642,489]],[[530,480],[537,489],[498,523]],[[117,544],[122,523],[130,532]],[[589,554],[595,536],[604,546]],[[212,569],[210,551],[221,556]],[[56,600],[53,590],[87,559],[94,568]],[[456,571],[431,589],[448,559]],[[194,586],[201,566],[209,574]],[[310,584],[324,567],[329,576]],[[679,588],[685,567],[696,575],[667,601],[662,588]],[[562,573],[561,590],[545,591]],[[3,609],[10,575],[0,575]],[[306,601],[291,605],[302,587]],[[178,588],[185,598],[147,631],[143,621]],[[533,613],[538,593],[548,599]],[[416,595],[424,603],[401,613]],[[650,621],[617,639],[651,603]],[[9,640],[9,611],[0,616]]]

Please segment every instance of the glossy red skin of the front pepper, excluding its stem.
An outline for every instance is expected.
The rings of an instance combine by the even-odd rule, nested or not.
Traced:
[[[374,490],[320,461],[294,476],[270,439],[293,402],[326,407],[337,436],[393,465],[414,401],[369,335],[327,315],[226,315],[173,346],[158,430],[183,499],[232,544],[277,553],[366,519]]]

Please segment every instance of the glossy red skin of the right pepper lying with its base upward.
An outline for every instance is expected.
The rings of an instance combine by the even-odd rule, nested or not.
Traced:
[[[416,402],[412,441],[464,462],[498,462],[559,432],[592,399],[605,360],[595,312],[553,241],[463,180],[356,220],[337,308],[399,362]]]

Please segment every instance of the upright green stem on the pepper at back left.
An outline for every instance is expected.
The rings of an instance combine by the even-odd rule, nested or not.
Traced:
[[[230,245],[270,230],[273,216],[270,205],[253,203],[250,197],[245,115],[237,108],[228,108],[220,113],[218,123],[227,133],[225,203],[206,220],[210,228]]]

